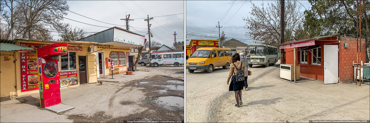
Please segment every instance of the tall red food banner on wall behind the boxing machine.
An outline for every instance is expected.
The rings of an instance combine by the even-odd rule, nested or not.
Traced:
[[[38,83],[36,49],[45,45],[30,43],[20,43],[20,45],[32,48],[27,52],[20,53],[21,92],[37,90],[40,85]]]

